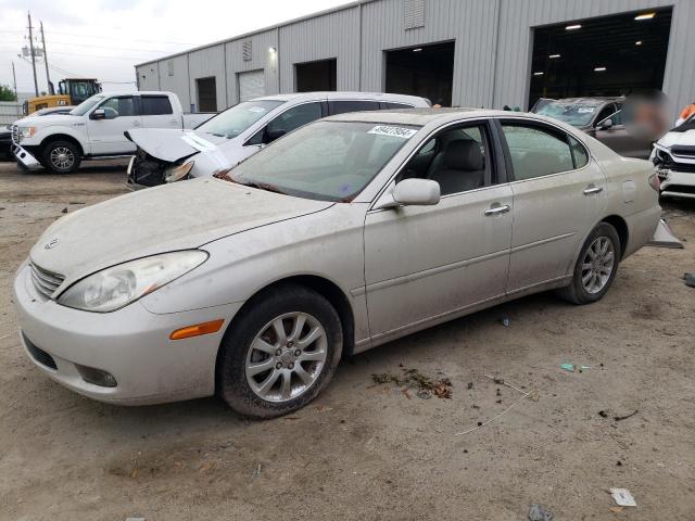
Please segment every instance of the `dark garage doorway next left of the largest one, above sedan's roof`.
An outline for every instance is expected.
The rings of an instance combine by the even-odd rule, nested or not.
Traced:
[[[421,96],[443,106],[452,104],[454,42],[386,51],[386,91]]]

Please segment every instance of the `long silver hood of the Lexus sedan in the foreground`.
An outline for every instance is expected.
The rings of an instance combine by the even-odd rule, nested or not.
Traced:
[[[175,182],[121,195],[56,220],[29,258],[72,283],[134,258],[200,247],[332,204],[215,178]]]

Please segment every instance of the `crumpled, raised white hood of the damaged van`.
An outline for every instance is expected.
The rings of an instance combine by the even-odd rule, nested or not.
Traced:
[[[222,136],[175,128],[134,128],[125,136],[152,157],[169,163],[198,152],[214,153],[218,144],[229,142]]]

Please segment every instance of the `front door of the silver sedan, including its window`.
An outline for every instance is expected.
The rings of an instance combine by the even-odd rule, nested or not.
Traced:
[[[396,182],[438,181],[439,204],[367,213],[365,281],[372,340],[504,295],[513,200],[509,185],[497,182],[490,142],[486,123],[432,138]]]

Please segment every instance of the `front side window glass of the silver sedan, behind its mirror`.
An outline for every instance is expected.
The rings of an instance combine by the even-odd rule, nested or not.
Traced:
[[[491,168],[484,125],[466,125],[429,139],[396,180],[431,179],[439,183],[442,195],[448,195],[491,183]]]

